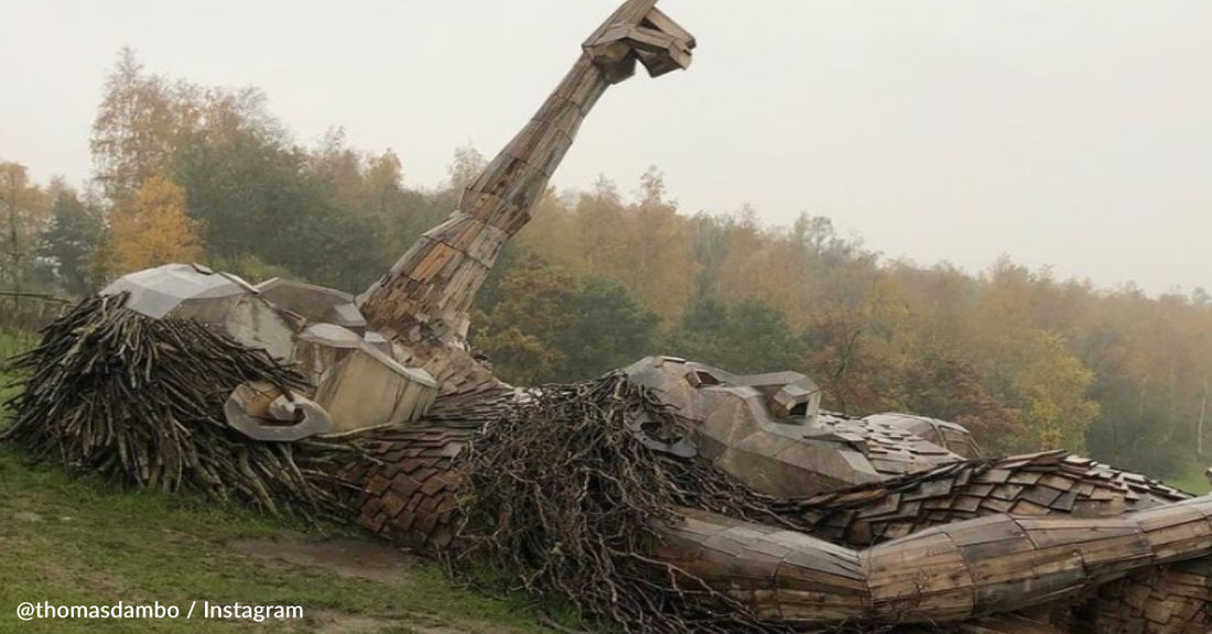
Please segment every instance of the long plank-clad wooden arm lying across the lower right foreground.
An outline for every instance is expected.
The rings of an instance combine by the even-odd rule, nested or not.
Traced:
[[[865,551],[686,509],[657,557],[770,621],[955,622],[1212,553],[1212,497],[1121,518],[990,515]]]

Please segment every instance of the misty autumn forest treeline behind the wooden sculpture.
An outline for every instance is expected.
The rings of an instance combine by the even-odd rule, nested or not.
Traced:
[[[200,261],[253,281],[360,292],[440,223],[485,165],[411,184],[391,151],[338,129],[301,144],[253,88],[147,71],[124,51],[90,139],[91,180],[0,162],[0,286],[80,296]],[[15,157],[8,157],[15,158]],[[627,190],[627,191],[624,191]],[[519,384],[645,355],[738,373],[795,369],[852,414],[967,425],[1001,451],[1063,446],[1170,474],[1201,462],[1212,298],[1100,289],[1001,259],[979,275],[887,260],[829,219],[686,213],[656,168],[549,191],[481,293],[474,345]]]

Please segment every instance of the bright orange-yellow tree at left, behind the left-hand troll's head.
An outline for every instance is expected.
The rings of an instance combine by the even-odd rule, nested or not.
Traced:
[[[112,273],[190,263],[201,254],[198,223],[185,215],[185,192],[167,177],[149,178],[110,217]]]

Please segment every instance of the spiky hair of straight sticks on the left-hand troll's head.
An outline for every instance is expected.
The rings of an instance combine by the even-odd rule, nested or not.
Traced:
[[[201,491],[269,513],[331,517],[338,443],[258,443],[230,428],[238,385],[305,387],[293,369],[196,322],[152,319],[125,295],[85,300],[11,365],[24,379],[0,440],[138,489]]]

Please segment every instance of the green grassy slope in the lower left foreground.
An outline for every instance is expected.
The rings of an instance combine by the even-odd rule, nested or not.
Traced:
[[[0,333],[0,356],[28,339]],[[2,425],[2,422],[0,422]],[[171,621],[17,619],[23,601],[176,605]],[[191,619],[185,612],[198,601]],[[298,605],[303,618],[200,618],[202,601]],[[193,496],[122,492],[0,445],[0,633],[465,634],[541,632],[516,599],[453,587],[441,570],[332,526]]]

